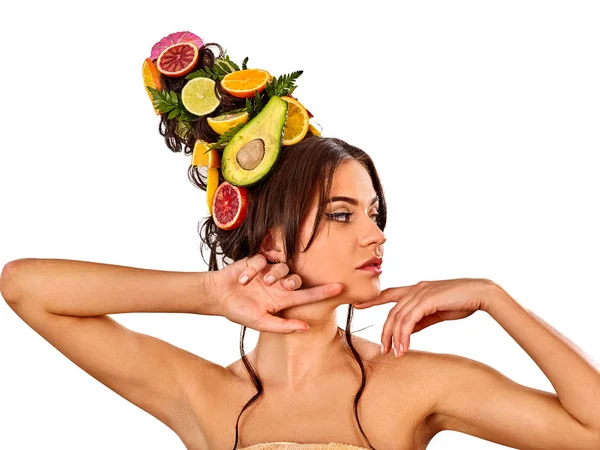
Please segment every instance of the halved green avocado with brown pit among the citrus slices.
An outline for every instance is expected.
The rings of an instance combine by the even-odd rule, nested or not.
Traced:
[[[283,141],[288,103],[273,96],[223,149],[221,173],[235,186],[252,186],[275,166]]]

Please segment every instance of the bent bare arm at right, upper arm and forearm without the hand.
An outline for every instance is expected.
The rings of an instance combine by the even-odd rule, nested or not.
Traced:
[[[527,352],[556,394],[518,384],[485,364],[450,357],[448,384],[436,411],[441,428],[520,449],[600,449],[598,369],[499,286],[485,300],[482,310]]]

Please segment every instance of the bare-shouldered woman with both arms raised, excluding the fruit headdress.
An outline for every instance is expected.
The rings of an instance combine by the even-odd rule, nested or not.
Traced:
[[[177,140],[174,129],[165,128],[167,138]],[[339,196],[353,200],[329,201]],[[250,191],[237,231],[207,220],[209,272],[18,260],[5,267],[2,294],[57,349],[190,449],[416,449],[444,429],[516,448],[597,448],[600,375],[500,286],[459,279],[380,292],[377,271],[360,267],[382,257],[385,218],[371,159],[309,133]],[[217,248],[234,261],[220,270]],[[385,302],[396,305],[382,354],[351,336],[350,323],[357,305]],[[349,305],[346,330],[335,321],[341,304]],[[409,349],[411,332],[477,310],[532,356],[558,396],[467,358]],[[242,333],[242,359],[222,367],[106,316],[140,311],[222,315],[260,337],[244,355]]]

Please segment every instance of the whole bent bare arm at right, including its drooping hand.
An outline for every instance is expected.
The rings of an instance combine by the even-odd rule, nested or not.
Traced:
[[[383,353],[393,344],[403,357],[412,333],[481,310],[529,354],[556,390],[521,385],[469,358],[432,353],[428,360],[438,376],[430,416],[438,431],[459,431],[519,449],[600,450],[600,371],[499,285],[480,278],[421,281],[388,288],[354,306],[389,302],[396,305],[383,326]]]

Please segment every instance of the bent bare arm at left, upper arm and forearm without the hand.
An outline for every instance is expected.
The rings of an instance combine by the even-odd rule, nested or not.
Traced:
[[[107,314],[216,314],[209,276],[211,272],[22,259],[4,267],[0,291],[27,325],[74,364],[190,443],[204,439],[199,423],[204,413],[196,408],[203,406],[202,393],[215,389],[224,379],[225,369],[130,330]],[[18,349],[18,344],[13,345]],[[190,390],[195,392],[194,409]],[[68,427],[65,423],[65,432]]]

